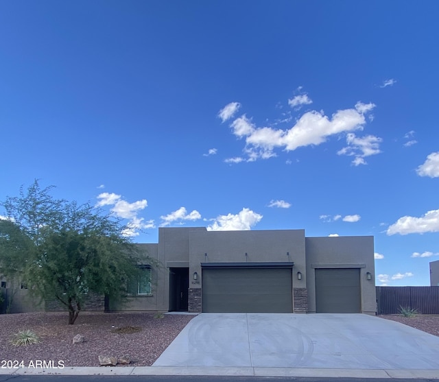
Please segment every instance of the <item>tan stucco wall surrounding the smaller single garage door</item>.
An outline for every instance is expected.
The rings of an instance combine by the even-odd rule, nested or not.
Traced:
[[[361,311],[375,315],[375,259],[372,236],[307,237],[307,289],[308,309],[316,312],[316,268],[359,268],[361,285]],[[366,272],[372,280],[366,280]]]

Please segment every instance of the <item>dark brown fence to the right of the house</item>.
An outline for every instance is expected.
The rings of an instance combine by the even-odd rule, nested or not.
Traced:
[[[377,314],[397,314],[401,307],[439,314],[439,287],[377,287]]]

